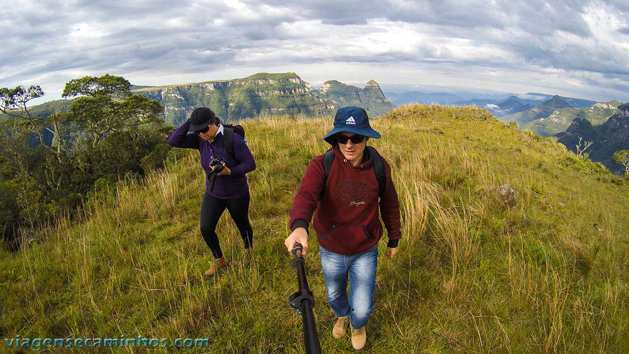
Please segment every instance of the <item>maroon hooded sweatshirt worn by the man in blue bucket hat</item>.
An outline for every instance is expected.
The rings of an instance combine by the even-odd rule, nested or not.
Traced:
[[[352,166],[345,159],[338,145],[333,146],[333,151],[335,161],[325,188],[323,155],[312,159],[306,168],[292,203],[291,230],[298,227],[308,230],[314,212],[313,227],[321,246],[339,254],[360,253],[377,244],[382,237],[379,206],[389,237],[387,246],[397,247],[401,237],[399,202],[389,163],[382,158],[386,183],[379,200],[376,173],[367,149],[358,166]]]

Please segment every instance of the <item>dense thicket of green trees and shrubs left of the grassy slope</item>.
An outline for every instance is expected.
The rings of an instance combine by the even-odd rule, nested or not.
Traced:
[[[68,113],[31,114],[26,103],[41,96],[39,86],[0,89],[0,111],[11,116],[0,117],[0,241],[13,249],[23,231],[75,215],[96,181],[142,176],[162,167],[170,149],[162,106],[132,94],[123,77],[70,80],[64,97],[76,98]],[[45,145],[45,130],[56,149]]]

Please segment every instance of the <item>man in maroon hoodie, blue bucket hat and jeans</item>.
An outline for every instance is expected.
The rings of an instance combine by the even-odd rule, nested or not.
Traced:
[[[310,161],[292,204],[292,233],[284,241],[289,252],[299,242],[306,254],[308,224],[314,213],[328,303],[338,317],[332,335],[341,338],[349,324],[356,350],[365,346],[365,324],[374,309],[378,241],[382,237],[379,212],[389,237],[387,258],[395,256],[401,237],[391,168],[375,149],[370,153],[369,137],[379,139],[381,135],[371,128],[363,108],[337,111],[334,128],[323,137],[333,151],[329,174],[325,173],[325,155]],[[384,165],[380,181],[376,176],[378,163]]]

